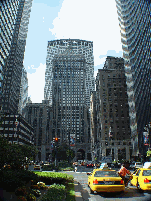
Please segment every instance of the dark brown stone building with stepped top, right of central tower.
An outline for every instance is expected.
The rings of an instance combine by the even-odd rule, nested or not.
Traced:
[[[107,57],[96,78],[101,156],[130,160],[131,130],[124,60]]]

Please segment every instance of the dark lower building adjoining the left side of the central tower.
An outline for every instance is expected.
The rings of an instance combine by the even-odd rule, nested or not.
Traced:
[[[52,108],[47,101],[42,103],[27,103],[25,119],[34,129],[34,145],[38,149],[36,161],[51,159],[52,145]]]

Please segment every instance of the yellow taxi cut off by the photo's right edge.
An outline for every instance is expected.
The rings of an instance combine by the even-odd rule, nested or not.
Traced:
[[[151,168],[139,168],[133,173],[131,185],[139,191],[151,191]]]

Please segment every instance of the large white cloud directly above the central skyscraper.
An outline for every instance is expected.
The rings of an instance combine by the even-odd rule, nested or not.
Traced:
[[[114,0],[64,0],[49,31],[56,39],[73,38],[93,41],[94,65],[108,50],[122,51],[120,28]],[[112,55],[111,55],[112,56]]]

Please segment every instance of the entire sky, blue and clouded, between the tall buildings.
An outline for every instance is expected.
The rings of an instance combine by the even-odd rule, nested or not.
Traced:
[[[107,56],[122,57],[115,0],[33,0],[24,66],[34,103],[44,99],[48,41],[62,38],[93,41],[94,76]]]

